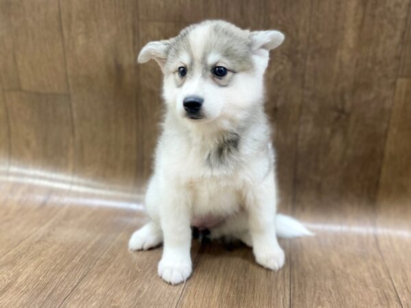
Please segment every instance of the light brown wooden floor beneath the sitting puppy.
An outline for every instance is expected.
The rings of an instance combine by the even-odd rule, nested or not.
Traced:
[[[316,236],[281,240],[279,272],[245,246],[193,240],[194,274],[172,286],[161,248],[127,250],[141,196],[38,182],[1,186],[0,307],[411,307],[410,203],[295,211]]]

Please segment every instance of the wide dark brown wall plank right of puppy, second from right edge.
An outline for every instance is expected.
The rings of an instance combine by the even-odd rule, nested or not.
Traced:
[[[408,0],[314,1],[297,206],[315,205],[316,215],[330,219],[341,212],[329,204],[347,203],[351,214],[375,200],[407,8]]]

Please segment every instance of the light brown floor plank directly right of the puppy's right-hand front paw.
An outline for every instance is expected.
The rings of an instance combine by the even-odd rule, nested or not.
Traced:
[[[375,230],[323,227],[314,238],[292,241],[292,307],[401,307]]]

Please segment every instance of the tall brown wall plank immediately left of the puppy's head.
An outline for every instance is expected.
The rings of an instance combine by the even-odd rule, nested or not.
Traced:
[[[60,1],[79,175],[136,182],[142,130],[132,1]]]

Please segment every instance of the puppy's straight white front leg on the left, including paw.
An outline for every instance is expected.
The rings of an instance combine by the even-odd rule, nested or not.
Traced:
[[[164,235],[158,274],[173,285],[186,281],[191,274],[190,209],[184,191],[169,190],[160,205],[160,222]]]

